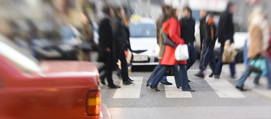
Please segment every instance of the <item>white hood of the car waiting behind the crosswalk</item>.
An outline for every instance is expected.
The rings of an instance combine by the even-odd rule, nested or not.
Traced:
[[[155,47],[159,47],[157,44],[157,39],[155,37],[151,38],[130,38],[130,44],[132,50],[148,50],[154,49]]]

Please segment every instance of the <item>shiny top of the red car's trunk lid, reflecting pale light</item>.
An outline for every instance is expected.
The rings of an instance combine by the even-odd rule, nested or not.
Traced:
[[[43,77],[86,77],[98,75],[97,67],[86,61],[42,61]]]

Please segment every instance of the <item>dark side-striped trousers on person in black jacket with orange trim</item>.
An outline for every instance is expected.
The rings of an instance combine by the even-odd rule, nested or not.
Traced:
[[[215,46],[215,42],[211,44],[207,44],[205,40],[203,40],[201,61],[200,61],[200,66],[199,66],[201,74],[204,73],[204,70],[207,68],[208,64],[213,71],[216,67],[216,60],[213,53],[214,46]]]

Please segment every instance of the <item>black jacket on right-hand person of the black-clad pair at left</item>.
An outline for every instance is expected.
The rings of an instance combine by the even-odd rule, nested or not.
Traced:
[[[117,52],[118,50],[124,50],[126,48],[127,32],[121,18],[114,17],[113,21],[113,43]]]

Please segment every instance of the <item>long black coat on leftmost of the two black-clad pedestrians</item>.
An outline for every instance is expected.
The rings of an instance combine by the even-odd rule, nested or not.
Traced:
[[[111,52],[113,51],[113,31],[109,18],[104,18],[99,27],[98,53],[100,58],[104,58],[107,47],[110,48]]]

